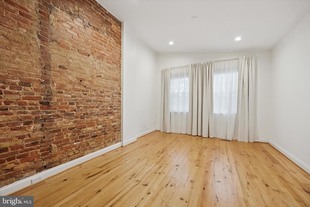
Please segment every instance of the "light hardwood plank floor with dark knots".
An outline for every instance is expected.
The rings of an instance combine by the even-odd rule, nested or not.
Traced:
[[[310,175],[268,143],[155,131],[12,195],[35,207],[310,207]]]

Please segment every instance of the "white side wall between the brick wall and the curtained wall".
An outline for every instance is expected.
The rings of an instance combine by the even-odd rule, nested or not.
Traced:
[[[156,53],[123,23],[122,144],[155,130]]]

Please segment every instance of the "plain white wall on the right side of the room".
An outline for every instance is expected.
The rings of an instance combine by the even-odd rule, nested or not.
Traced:
[[[272,50],[270,143],[310,173],[310,13]]]

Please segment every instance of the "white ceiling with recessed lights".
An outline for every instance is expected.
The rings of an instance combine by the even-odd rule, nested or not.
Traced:
[[[97,1],[157,53],[271,49],[310,12],[310,0]]]

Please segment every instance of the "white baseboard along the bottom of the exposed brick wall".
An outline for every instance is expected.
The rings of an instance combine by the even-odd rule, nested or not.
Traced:
[[[43,171],[43,172],[40,172],[40,173],[37,173],[35,175],[32,175],[30,177],[27,177],[27,178],[24,178],[22,180],[19,180],[19,181],[16,181],[12,184],[9,184],[7,186],[4,186],[2,188],[0,188],[0,196],[4,196],[4,195],[8,195],[12,192],[15,192],[15,191],[18,191],[22,188],[25,188],[27,186],[30,186],[31,185],[31,180],[34,179],[34,178],[37,178],[37,177],[42,177],[42,179],[46,179],[47,177],[50,177],[50,176],[53,176],[53,175],[56,175],[58,173],[61,173],[62,171],[64,170],[67,170],[71,167],[74,167],[82,162],[85,162],[85,161],[88,161],[90,159],[93,159],[95,157],[98,157],[100,155],[103,155],[113,149],[116,149],[118,147],[121,147],[122,146],[122,143],[116,143],[116,144],[113,144],[113,145],[110,145],[106,148],[103,148],[103,149],[100,149],[98,151],[95,151],[93,153],[90,153],[88,155],[85,155],[83,157],[80,157],[78,159],[74,159],[72,161],[69,161],[69,162],[66,162],[66,163],[63,163],[61,165],[58,165],[56,167],[53,167],[53,168],[50,168],[46,171]]]

